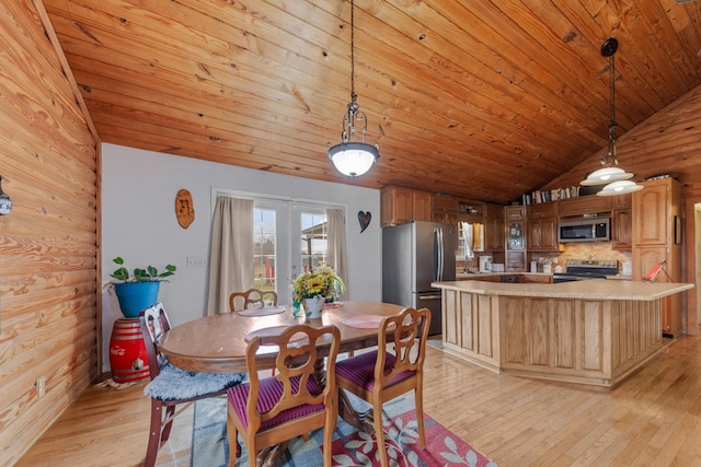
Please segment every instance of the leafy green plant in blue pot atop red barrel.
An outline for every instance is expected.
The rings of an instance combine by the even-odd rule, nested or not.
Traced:
[[[163,272],[159,272],[153,266],[135,268],[131,272],[124,266],[124,259],[117,256],[113,261],[118,268],[110,275],[116,279],[111,282],[119,301],[122,313],[127,318],[139,316],[142,310],[158,303],[158,292],[161,281],[166,281],[175,273],[175,266],[166,265]]]

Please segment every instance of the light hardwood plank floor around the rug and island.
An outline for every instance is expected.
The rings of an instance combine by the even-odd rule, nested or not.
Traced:
[[[142,385],[91,387],[19,466],[135,466],[146,452]],[[429,348],[425,411],[505,466],[701,466],[701,340],[676,339],[609,390],[498,375]],[[159,465],[189,463],[192,413]]]

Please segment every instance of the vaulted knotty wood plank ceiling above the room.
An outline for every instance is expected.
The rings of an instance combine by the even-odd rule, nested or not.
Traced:
[[[591,157],[608,37],[619,136],[701,84],[701,2],[356,0],[381,159],[349,179],[326,157],[350,100],[347,0],[44,3],[104,142],[371,188],[508,202]]]

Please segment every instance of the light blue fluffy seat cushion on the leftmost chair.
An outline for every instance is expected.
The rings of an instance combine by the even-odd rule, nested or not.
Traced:
[[[143,394],[157,400],[186,400],[221,393],[243,383],[248,373],[188,372],[166,363],[145,388]]]

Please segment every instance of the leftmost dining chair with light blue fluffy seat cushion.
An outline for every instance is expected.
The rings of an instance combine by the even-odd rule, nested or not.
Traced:
[[[177,413],[195,400],[226,394],[248,376],[245,373],[188,372],[168,363],[158,348],[161,336],[171,328],[162,303],[143,310],[139,322],[151,378],[143,388],[143,394],[151,398],[151,425],[143,466],[151,467],[156,464],[158,451],[171,434]],[[176,406],[180,406],[177,410]]]

